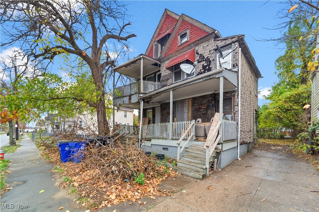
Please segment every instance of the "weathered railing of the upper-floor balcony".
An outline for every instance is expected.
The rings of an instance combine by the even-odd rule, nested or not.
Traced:
[[[141,81],[136,81],[128,85],[123,85],[123,86],[115,88],[114,97],[119,98],[119,97],[139,94],[139,93],[149,93],[161,88],[160,82],[152,82],[152,81],[143,80],[143,90],[141,91],[140,82]]]

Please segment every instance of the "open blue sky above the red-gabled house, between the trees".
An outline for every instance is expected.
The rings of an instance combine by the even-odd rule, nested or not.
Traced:
[[[244,34],[245,41],[256,61],[263,78],[259,90],[268,90],[277,81],[275,60],[284,54],[285,46],[271,41],[283,32],[270,30],[283,22],[278,12],[286,13],[289,7],[280,1],[124,1],[128,14],[133,15],[131,32],[137,35],[130,39],[130,58],[145,53],[162,14],[168,10],[185,14],[220,32],[223,37]],[[263,92],[267,94],[267,92]],[[264,100],[259,99],[259,105]]]

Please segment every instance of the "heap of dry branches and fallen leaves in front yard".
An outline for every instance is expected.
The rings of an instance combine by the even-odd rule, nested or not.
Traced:
[[[94,205],[95,209],[137,201],[143,196],[153,199],[166,196],[171,191],[161,190],[158,185],[176,174],[155,157],[145,155],[133,145],[124,147],[119,141],[103,147],[88,145],[81,163],[62,163],[57,148],[46,154],[55,166],[65,170],[62,175],[70,179],[63,180],[60,186],[75,188],[86,199],[83,206]],[[145,175],[144,185],[135,182],[140,173]]]

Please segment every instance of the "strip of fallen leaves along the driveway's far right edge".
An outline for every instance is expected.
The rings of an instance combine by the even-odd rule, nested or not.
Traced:
[[[259,138],[257,143],[254,144],[253,148],[256,150],[264,150],[271,152],[286,152],[293,153],[298,158],[305,159],[311,163],[316,170],[319,172],[319,155],[307,154],[302,150],[295,148],[294,139],[269,139],[269,138]]]

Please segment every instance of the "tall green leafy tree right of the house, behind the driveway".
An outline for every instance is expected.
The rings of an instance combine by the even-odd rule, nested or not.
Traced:
[[[307,67],[313,56],[315,37],[302,38],[317,29],[318,17],[309,19],[309,16],[314,17],[317,12],[304,4],[285,23],[287,31],[279,40],[286,44],[286,51],[275,62],[278,82],[272,86],[271,94],[266,97],[270,103],[260,108],[260,128],[287,128],[293,130],[293,136],[308,128],[310,109],[305,110],[303,106],[311,101]]]

